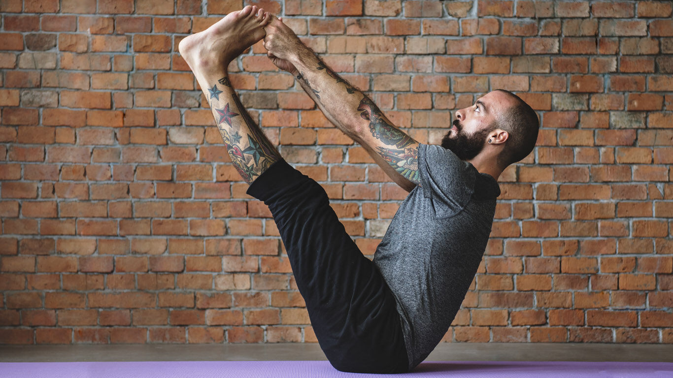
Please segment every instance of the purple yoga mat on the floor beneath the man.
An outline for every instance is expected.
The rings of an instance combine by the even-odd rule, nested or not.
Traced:
[[[365,378],[393,375],[343,373],[327,361],[170,361],[0,363],[3,378]],[[673,363],[629,362],[426,362],[397,377],[435,378],[659,378],[673,377]]]

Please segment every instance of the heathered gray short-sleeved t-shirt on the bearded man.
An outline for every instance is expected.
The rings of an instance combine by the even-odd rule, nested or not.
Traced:
[[[447,149],[419,145],[421,184],[409,193],[376,249],[374,264],[397,299],[409,368],[453,322],[476,274],[500,188]]]

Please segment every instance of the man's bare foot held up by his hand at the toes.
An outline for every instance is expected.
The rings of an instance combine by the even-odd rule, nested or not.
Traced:
[[[271,14],[256,5],[247,5],[223,17],[203,32],[187,36],[178,45],[180,55],[190,69],[207,74],[211,69],[226,69],[246,48],[264,38],[264,26]]]

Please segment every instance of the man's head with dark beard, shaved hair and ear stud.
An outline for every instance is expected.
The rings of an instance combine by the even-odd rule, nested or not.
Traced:
[[[487,145],[499,147],[497,165],[505,169],[528,156],[538,138],[538,116],[524,100],[505,89],[491,91],[474,105],[456,111],[441,146],[470,160]]]

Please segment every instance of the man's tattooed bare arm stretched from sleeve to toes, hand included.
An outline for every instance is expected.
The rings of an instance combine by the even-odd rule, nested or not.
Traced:
[[[364,93],[336,75],[285,24],[274,18],[265,30],[264,46],[274,63],[286,64],[286,71],[293,73],[334,126],[362,145],[396,184],[413,190],[420,182],[419,143],[394,126]]]

